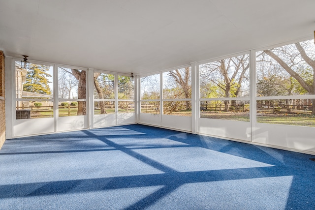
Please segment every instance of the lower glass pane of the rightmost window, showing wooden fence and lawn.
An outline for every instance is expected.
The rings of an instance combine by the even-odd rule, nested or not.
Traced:
[[[315,99],[257,100],[257,122],[315,127]]]

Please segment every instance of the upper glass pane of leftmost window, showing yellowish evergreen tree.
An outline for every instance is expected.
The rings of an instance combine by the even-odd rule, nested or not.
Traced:
[[[30,64],[21,69],[15,62],[16,98],[53,98],[53,66]]]

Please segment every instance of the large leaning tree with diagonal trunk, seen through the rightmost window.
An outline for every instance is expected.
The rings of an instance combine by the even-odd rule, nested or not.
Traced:
[[[275,60],[303,89],[315,94],[315,55],[311,40],[263,52]],[[303,91],[300,93],[303,94]],[[315,115],[315,99],[312,99],[312,114]]]

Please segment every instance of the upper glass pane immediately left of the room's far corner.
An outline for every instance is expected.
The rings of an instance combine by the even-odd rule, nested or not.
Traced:
[[[134,82],[128,76],[118,76],[118,99],[134,99]]]

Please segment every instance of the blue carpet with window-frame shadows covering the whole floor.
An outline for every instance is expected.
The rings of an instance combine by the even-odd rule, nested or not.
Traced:
[[[313,155],[126,125],[7,140],[1,210],[314,210]]]

